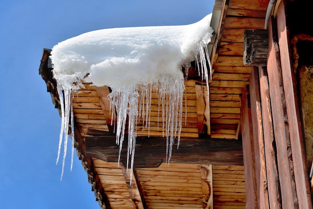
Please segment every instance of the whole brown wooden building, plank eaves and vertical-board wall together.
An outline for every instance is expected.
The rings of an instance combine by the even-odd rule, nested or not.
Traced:
[[[84,83],[73,99],[75,147],[102,208],[312,208],[313,29],[298,25],[312,3],[274,1],[264,29],[268,3],[215,0],[209,95],[191,67],[169,164],[152,99],[131,184],[124,152],[117,166],[109,88]],[[49,53],[39,73],[59,108]]]

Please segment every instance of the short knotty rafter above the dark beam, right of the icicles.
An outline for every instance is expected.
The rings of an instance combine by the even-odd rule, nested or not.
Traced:
[[[210,135],[210,104],[207,95],[207,87],[195,84],[195,95],[198,133]]]

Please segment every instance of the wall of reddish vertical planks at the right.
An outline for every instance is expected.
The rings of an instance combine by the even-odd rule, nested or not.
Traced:
[[[267,68],[253,67],[241,96],[246,208],[312,208],[284,2],[276,8]]]

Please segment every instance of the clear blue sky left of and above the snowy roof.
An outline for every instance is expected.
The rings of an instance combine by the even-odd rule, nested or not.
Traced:
[[[42,48],[90,30],[200,20],[213,0],[1,0],[0,208],[99,208],[70,150],[55,165],[61,119],[38,74]]]

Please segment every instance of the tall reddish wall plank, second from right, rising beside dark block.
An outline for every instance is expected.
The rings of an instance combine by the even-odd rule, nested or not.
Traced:
[[[279,56],[277,62],[276,50],[274,45],[273,32],[276,31],[276,27],[272,26],[272,22],[275,20],[269,19],[268,32],[269,32],[269,44],[268,44],[268,59],[267,59],[267,72],[268,72],[268,83],[269,83],[269,95],[272,111],[272,122],[274,128],[274,137],[277,149],[277,165],[278,165],[278,176],[280,181],[281,189],[281,202],[282,208],[297,208],[298,203],[296,199],[296,191],[294,188],[295,182],[293,180],[293,170],[289,167],[289,153],[287,140],[289,141],[288,130],[285,127],[284,122],[284,99],[281,97],[282,80],[279,78],[281,73],[281,66],[279,63]],[[278,50],[277,50],[278,51]],[[280,88],[281,86],[281,88]],[[282,90],[283,91],[283,90]]]

